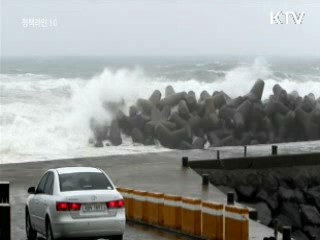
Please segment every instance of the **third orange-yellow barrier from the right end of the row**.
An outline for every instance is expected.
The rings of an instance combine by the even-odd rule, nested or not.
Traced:
[[[182,198],[182,231],[201,236],[201,200]]]

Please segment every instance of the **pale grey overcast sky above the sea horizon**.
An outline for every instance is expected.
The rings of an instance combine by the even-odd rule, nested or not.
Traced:
[[[303,24],[271,25],[279,10],[305,12]],[[29,18],[58,26],[24,28]],[[1,0],[3,56],[320,56],[319,44],[316,0]]]

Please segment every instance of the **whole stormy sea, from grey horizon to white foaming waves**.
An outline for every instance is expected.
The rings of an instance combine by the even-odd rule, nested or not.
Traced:
[[[257,78],[263,98],[279,83],[320,97],[320,58],[159,57],[3,58],[0,71],[0,163],[168,151],[161,146],[93,148],[89,119],[110,121],[104,101],[126,102],[171,84],[176,91],[246,94]]]

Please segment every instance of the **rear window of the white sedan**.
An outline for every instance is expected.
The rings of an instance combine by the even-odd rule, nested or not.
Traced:
[[[101,172],[77,172],[59,174],[60,191],[112,190],[109,179]]]

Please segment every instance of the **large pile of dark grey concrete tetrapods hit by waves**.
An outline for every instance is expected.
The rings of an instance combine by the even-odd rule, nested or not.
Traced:
[[[131,136],[131,132],[136,128],[133,138],[141,142],[142,134],[144,144],[147,139],[150,139],[148,144],[158,140],[155,129],[159,124],[170,134],[188,127],[191,129],[190,139],[200,138],[201,141],[199,139],[197,143],[207,139],[211,146],[319,140],[319,99],[312,93],[304,98],[297,92],[288,94],[276,84],[272,89],[273,95],[262,102],[264,84],[263,80],[258,79],[247,95],[233,99],[223,91],[214,91],[211,96],[204,90],[199,100],[196,99],[194,91],[176,93],[169,85],[165,89],[164,98],[161,98],[161,92],[156,89],[149,99],[138,99],[136,105],[129,108],[129,116],[121,111],[125,105],[124,100],[105,102],[103,106],[113,117],[116,116],[115,120],[122,133]],[[91,119],[90,128],[94,136],[93,143],[109,140],[109,123],[98,123]],[[112,131],[114,132],[114,129]],[[192,146],[190,139],[183,141]],[[119,138],[116,142],[119,144]],[[180,143],[181,141],[175,142],[173,145],[179,147]],[[196,148],[199,147],[202,148],[202,144],[197,144]],[[310,185],[305,179],[293,179],[293,182],[292,186],[288,185],[289,188],[305,190]],[[285,197],[281,194],[280,196]],[[295,191],[286,201],[303,203],[305,199],[301,192]]]

